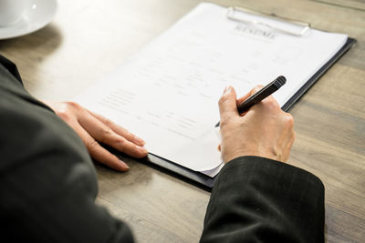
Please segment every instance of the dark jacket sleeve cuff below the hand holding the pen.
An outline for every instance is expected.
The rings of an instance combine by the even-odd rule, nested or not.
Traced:
[[[323,242],[324,187],[263,157],[238,157],[217,177],[201,242]]]

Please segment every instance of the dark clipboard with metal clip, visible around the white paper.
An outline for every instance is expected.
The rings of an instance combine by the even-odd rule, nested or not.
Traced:
[[[261,15],[261,16],[265,16],[265,17],[269,17],[269,18],[274,18],[274,19],[276,19],[278,21],[282,21],[282,22],[283,21],[288,22],[288,23],[291,23],[292,25],[300,26],[301,29],[299,28],[300,31],[298,31],[298,32],[293,32],[293,31],[288,31],[283,28],[276,28],[276,26],[266,25],[265,23],[246,21],[245,19],[241,19],[241,18],[238,18],[237,16],[235,16],[235,14],[240,11],[244,11],[245,13],[249,13],[252,15]],[[310,29],[310,25],[308,23],[299,22],[299,21],[287,19],[284,17],[279,17],[274,14],[268,15],[268,14],[264,14],[264,13],[258,13],[253,10],[242,8],[242,7],[227,8],[227,18],[235,20],[235,21],[239,21],[239,22],[249,22],[250,24],[253,24],[253,25],[266,25],[266,27],[270,27],[276,31],[281,31],[281,32],[284,32],[289,35],[301,36],[301,35],[304,35],[308,31],[308,29]],[[344,46],[342,46],[339,49],[339,51],[336,53],[336,55],[332,56],[324,66],[320,67],[318,69],[318,71],[308,79],[308,81],[305,83],[305,85],[301,86],[297,90],[297,93],[294,96],[291,96],[289,98],[287,103],[284,106],[282,106],[282,109],[284,111],[290,110],[290,108],[293,107],[297,103],[297,101],[300,99],[300,97],[304,96],[306,94],[306,92],[308,91],[308,89],[311,86],[313,86],[318,81],[318,79],[321,76],[323,76],[328,71],[328,69],[331,66],[333,66],[339,60],[339,58],[341,56],[343,56],[349,50],[349,48],[351,46],[353,46],[355,43],[356,43],[356,39],[348,37],[347,42],[344,44]],[[218,174],[215,177],[209,177],[209,176],[204,175],[201,172],[197,172],[197,171],[194,171],[187,167],[180,166],[170,160],[167,160],[163,157],[159,157],[159,156],[151,154],[151,153],[148,155],[148,157],[145,157],[142,159],[136,159],[136,160],[143,163],[146,166],[153,167],[155,169],[162,171],[163,173],[169,174],[172,177],[178,177],[178,178],[182,179],[183,181],[190,183],[196,187],[200,187],[206,191],[212,191],[212,188],[214,186],[214,179],[215,179],[215,177],[217,177],[219,175]]]

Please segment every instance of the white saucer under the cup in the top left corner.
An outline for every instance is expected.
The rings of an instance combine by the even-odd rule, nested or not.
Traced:
[[[56,9],[57,0],[30,0],[21,20],[14,25],[0,26],[0,39],[26,35],[46,26]]]

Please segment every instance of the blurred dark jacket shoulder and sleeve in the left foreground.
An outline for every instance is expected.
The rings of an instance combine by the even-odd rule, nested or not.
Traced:
[[[95,204],[97,177],[78,135],[0,62],[2,241],[132,242],[126,224]]]

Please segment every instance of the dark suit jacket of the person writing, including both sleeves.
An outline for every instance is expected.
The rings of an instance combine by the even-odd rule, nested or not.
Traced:
[[[130,229],[95,205],[95,168],[77,134],[30,96],[0,56],[1,238],[21,242],[132,242]],[[202,242],[322,242],[318,177],[263,157],[221,171]]]

